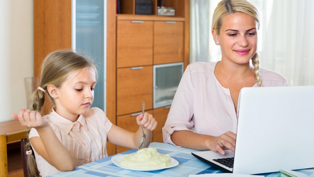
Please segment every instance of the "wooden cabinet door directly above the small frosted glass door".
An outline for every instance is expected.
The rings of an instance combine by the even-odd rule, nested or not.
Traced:
[[[183,62],[183,22],[154,22],[154,64]]]

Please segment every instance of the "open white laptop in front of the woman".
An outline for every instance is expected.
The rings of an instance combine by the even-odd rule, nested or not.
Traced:
[[[195,157],[239,174],[314,168],[314,86],[243,88],[239,104],[235,153]],[[233,165],[213,160],[221,158],[234,158]]]

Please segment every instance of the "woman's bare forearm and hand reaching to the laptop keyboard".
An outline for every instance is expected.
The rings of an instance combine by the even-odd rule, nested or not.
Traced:
[[[228,131],[219,137],[198,134],[188,130],[174,131],[171,135],[171,140],[177,146],[197,150],[209,149],[221,154],[225,154],[223,148],[230,149],[234,152],[236,146],[236,134],[231,131]]]

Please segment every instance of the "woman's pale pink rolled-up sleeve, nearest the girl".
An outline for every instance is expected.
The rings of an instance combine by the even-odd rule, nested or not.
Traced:
[[[165,143],[175,145],[171,141],[171,135],[174,131],[192,131],[194,126],[192,122],[194,104],[193,94],[194,86],[192,83],[190,66],[187,66],[173,98],[167,121],[162,129],[163,140]]]

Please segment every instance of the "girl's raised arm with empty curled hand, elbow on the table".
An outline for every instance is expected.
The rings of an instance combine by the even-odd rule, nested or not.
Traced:
[[[72,155],[60,142],[48,120],[40,113],[22,108],[18,115],[12,114],[22,126],[33,127],[40,137],[30,138],[36,153],[60,171],[72,171],[75,167]]]

